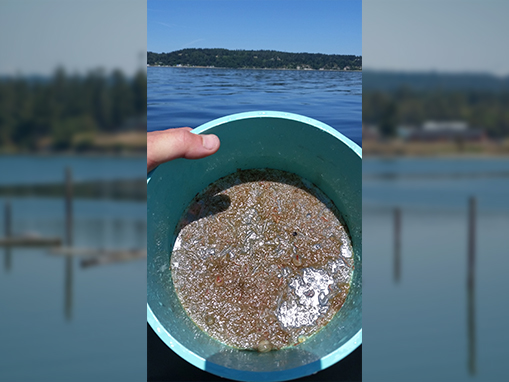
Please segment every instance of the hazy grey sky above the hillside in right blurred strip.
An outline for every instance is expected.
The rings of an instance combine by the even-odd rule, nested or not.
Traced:
[[[509,74],[509,1],[364,0],[365,69]]]

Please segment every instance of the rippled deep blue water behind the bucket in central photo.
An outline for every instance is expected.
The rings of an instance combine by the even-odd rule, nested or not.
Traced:
[[[274,110],[317,119],[361,145],[359,72],[149,67],[147,81],[149,131]]]

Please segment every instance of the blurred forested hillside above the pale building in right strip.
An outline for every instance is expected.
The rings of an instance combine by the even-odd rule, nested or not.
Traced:
[[[364,72],[365,124],[420,126],[461,120],[489,137],[509,137],[507,78],[485,74]]]

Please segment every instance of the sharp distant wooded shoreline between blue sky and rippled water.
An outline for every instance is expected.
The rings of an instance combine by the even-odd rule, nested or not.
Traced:
[[[275,50],[182,49],[170,53],[147,52],[147,64],[232,69],[361,70],[362,57]]]

